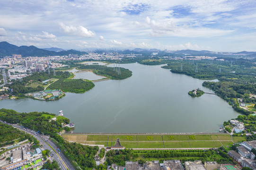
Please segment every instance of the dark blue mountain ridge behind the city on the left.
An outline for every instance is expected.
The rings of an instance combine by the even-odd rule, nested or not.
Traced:
[[[53,50],[56,50],[53,48]],[[61,49],[62,50],[62,49]],[[22,57],[44,57],[44,56],[62,56],[62,55],[69,55],[69,54],[88,54],[87,52],[81,52],[76,50],[68,50],[68,51],[49,51],[44,49],[39,49],[33,45],[31,46],[16,46],[10,44],[8,42],[0,42],[0,56],[11,56],[12,54],[21,54]]]

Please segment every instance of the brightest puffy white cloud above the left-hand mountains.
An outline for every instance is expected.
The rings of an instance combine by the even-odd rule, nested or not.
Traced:
[[[83,36],[86,38],[95,37],[96,34],[93,31],[86,29],[83,26],[66,26],[63,23],[59,23],[64,33]]]

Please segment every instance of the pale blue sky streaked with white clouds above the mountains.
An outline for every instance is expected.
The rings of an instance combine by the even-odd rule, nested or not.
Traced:
[[[0,41],[39,48],[256,51],[256,0],[2,0]]]

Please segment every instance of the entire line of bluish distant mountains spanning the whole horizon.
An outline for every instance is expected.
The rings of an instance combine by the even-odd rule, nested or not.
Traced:
[[[216,56],[216,57],[232,57],[232,56],[245,56],[245,57],[256,57],[255,51],[241,51],[241,52],[214,52],[214,51],[195,51],[195,50],[179,50],[179,51],[160,51],[158,49],[140,49],[135,48],[133,50],[95,50],[94,52],[103,53],[103,52],[119,52],[121,54],[142,54],[142,55],[150,55],[152,52],[158,52],[159,56],[185,56],[185,55],[192,55],[192,56]],[[31,46],[16,46],[10,44],[8,42],[0,42],[0,56],[11,56],[12,54],[21,54],[23,57],[28,56],[59,56],[59,55],[69,55],[69,54],[88,54],[87,52],[76,51],[76,50],[68,50],[64,51],[60,48],[44,48],[39,49],[33,45]]]

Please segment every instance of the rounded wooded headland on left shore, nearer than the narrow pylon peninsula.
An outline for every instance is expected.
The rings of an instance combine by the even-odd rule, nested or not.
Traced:
[[[63,92],[85,93],[93,87],[94,84],[91,81],[60,78],[53,84],[49,85],[47,89],[61,89]]]

